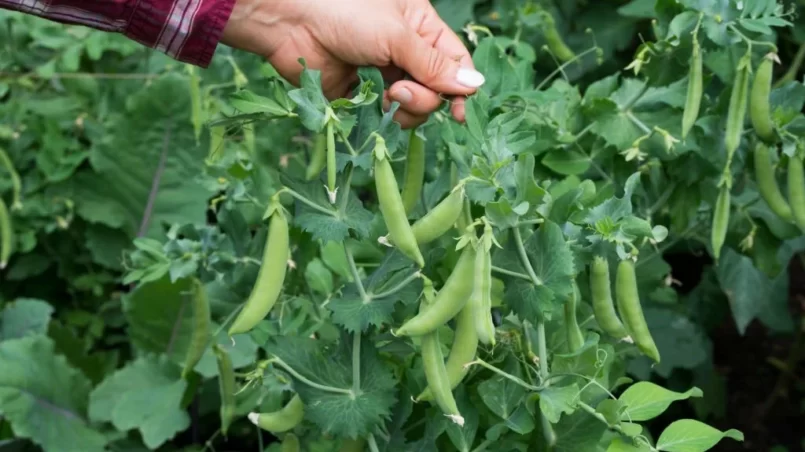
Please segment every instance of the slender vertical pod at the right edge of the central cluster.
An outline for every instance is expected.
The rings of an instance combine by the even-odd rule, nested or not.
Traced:
[[[495,325],[492,323],[492,226],[484,226],[484,235],[475,251],[475,275],[470,306],[475,317],[475,333],[478,341],[495,345]]]

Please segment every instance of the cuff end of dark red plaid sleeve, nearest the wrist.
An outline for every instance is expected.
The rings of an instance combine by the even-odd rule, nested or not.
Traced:
[[[208,67],[235,0],[140,0],[124,34],[171,58]]]

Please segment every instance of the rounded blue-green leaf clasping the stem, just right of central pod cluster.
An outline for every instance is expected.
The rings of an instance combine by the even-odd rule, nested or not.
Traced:
[[[513,242],[509,240],[504,251],[495,253],[494,265],[527,275]],[[571,280],[576,272],[573,252],[562,230],[551,221],[546,221],[525,239],[524,246],[540,284],[509,278],[505,301],[522,319],[549,318],[561,306],[557,296],[567,295],[572,290]]]

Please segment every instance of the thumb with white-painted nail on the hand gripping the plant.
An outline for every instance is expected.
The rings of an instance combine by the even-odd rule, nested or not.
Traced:
[[[457,57],[465,56],[469,58],[442,52],[410,28],[391,45],[391,61],[395,66],[431,90],[454,96],[473,94],[485,81],[483,74],[461,65]]]

